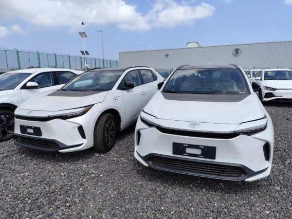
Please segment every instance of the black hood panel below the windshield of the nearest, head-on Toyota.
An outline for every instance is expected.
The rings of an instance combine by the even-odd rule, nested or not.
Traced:
[[[199,101],[199,102],[226,102],[235,103],[244,100],[250,94],[193,94],[193,93],[166,93],[162,92],[166,100]]]

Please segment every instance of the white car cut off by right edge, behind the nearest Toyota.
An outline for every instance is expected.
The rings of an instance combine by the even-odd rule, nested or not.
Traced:
[[[292,70],[264,69],[252,78],[260,101],[292,101]]]

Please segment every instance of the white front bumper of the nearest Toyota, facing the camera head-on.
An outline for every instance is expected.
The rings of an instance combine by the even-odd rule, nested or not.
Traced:
[[[170,172],[234,181],[259,180],[267,177],[272,167],[274,131],[270,122],[269,118],[266,130],[252,137],[215,139],[163,133],[157,128],[148,128],[139,117],[135,130],[135,158],[145,166]],[[216,146],[216,159],[174,155],[174,142]],[[269,145],[268,159],[263,149],[266,144]]]

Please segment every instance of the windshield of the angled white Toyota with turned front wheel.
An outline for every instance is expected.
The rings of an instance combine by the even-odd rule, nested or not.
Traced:
[[[63,91],[110,91],[123,71],[90,71],[75,77]]]

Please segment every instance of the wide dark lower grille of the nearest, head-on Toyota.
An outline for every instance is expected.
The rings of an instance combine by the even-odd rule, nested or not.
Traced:
[[[156,169],[202,177],[243,180],[247,176],[245,171],[238,166],[186,161],[159,156],[150,157],[148,163],[150,167]]]

